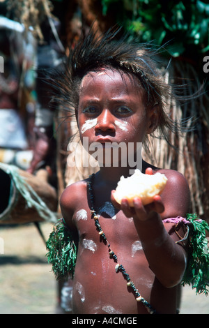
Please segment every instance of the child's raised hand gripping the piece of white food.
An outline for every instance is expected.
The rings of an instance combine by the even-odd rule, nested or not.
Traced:
[[[146,169],[146,174],[153,174],[153,170],[148,167],[148,169]],[[114,198],[114,192],[115,191],[111,192],[111,202],[114,207],[121,209],[127,218],[133,217],[140,221],[145,221],[151,216],[160,214],[164,211],[164,204],[162,203],[162,198],[160,195],[156,195],[153,198],[153,202],[145,206],[142,204],[140,197],[135,197],[134,207],[130,207],[127,199],[125,198],[122,200],[121,204],[118,204]]]

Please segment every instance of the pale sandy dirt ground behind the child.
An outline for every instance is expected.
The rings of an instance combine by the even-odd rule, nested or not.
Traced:
[[[41,223],[45,239],[51,223]],[[55,314],[56,280],[33,223],[0,226],[0,314]],[[183,288],[181,314],[209,314],[209,297]]]

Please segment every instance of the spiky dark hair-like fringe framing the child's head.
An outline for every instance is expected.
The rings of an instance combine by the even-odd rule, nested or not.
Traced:
[[[83,77],[100,68],[114,68],[134,75],[146,91],[147,106],[157,104],[158,121],[156,128],[167,142],[167,131],[176,132],[177,126],[166,112],[167,100],[178,98],[173,88],[164,82],[157,67],[159,50],[152,44],[128,42],[128,36],[118,38],[119,30],[111,29],[100,36],[91,30],[82,36],[70,51],[61,73],[54,75],[52,84],[56,89],[56,102],[64,105],[68,113],[75,115],[79,104],[79,87]],[[162,48],[161,48],[162,49]]]

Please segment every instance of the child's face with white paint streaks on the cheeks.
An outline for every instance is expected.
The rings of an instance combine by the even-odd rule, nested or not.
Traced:
[[[77,121],[81,140],[143,142],[150,133],[153,110],[144,105],[144,89],[137,78],[114,69],[84,76],[80,89]]]

